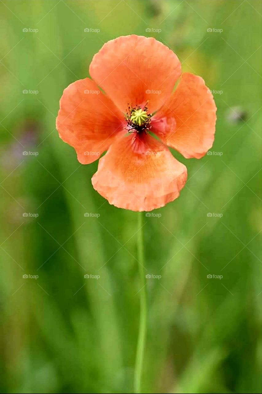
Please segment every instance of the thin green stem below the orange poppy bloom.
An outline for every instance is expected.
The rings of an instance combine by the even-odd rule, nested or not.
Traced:
[[[144,360],[144,349],[146,342],[146,321],[147,321],[147,295],[146,295],[146,272],[144,268],[144,242],[143,242],[143,222],[144,212],[138,213],[138,232],[137,232],[137,252],[138,270],[140,277],[140,322],[137,340],[137,354],[135,361],[134,388],[135,393],[141,392],[142,366]]]

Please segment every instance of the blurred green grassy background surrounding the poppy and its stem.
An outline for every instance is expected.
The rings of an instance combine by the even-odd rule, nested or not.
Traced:
[[[134,390],[137,213],[94,191],[98,162],[79,164],[55,130],[63,89],[133,33],[169,46],[218,107],[209,154],[172,151],[188,169],[179,199],[144,214],[142,392],[261,392],[261,13],[260,0],[0,1],[1,392]]]

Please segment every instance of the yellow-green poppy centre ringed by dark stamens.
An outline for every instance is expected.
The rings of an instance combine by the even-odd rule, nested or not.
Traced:
[[[150,130],[151,114],[148,113],[148,108],[145,105],[142,109],[140,106],[130,107],[125,115],[127,123],[126,129],[129,133],[133,132],[148,132]]]

